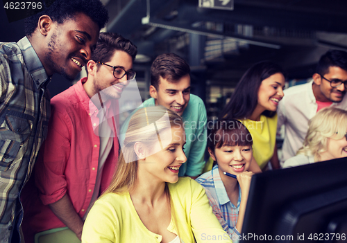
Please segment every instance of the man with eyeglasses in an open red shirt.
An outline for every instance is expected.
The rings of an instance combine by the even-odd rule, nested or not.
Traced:
[[[87,77],[52,98],[35,180],[25,188],[31,195],[24,205],[26,242],[33,242],[35,233],[62,227],[81,240],[87,210],[117,167],[117,100],[135,78],[136,53],[137,47],[121,35],[100,33],[86,65]]]

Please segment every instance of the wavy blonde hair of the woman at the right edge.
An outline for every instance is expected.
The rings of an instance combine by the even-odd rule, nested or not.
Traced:
[[[314,161],[321,161],[321,153],[327,151],[328,138],[344,138],[347,129],[347,111],[335,107],[323,108],[311,118],[303,147],[297,154],[314,156]]]

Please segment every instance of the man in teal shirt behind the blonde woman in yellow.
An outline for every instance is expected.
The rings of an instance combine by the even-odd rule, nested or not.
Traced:
[[[190,93],[190,68],[183,58],[174,53],[166,53],[155,58],[151,66],[152,98],[145,100],[141,107],[162,105],[183,117],[186,136],[185,155],[187,162],[180,167],[179,176],[196,179],[205,166],[206,109],[203,100]],[[130,116],[121,127],[126,133]]]

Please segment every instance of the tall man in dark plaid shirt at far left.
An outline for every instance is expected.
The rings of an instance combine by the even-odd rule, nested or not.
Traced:
[[[26,37],[0,43],[0,242],[20,242],[20,193],[44,141],[53,73],[76,78],[108,12],[99,0],[56,0],[28,17]]]

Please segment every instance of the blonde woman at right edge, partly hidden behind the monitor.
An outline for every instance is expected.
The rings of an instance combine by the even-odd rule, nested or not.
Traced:
[[[323,108],[308,125],[303,147],[285,161],[283,168],[347,156],[347,111]]]

